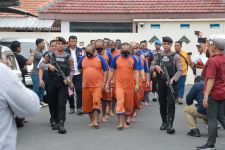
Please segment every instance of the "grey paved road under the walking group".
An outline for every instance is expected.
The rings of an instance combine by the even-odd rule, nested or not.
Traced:
[[[68,134],[59,135],[49,126],[49,113],[43,108],[37,116],[18,131],[17,150],[194,150],[204,144],[207,126],[199,120],[201,138],[186,136],[188,127],[183,114],[184,106],[176,106],[175,135],[159,130],[161,124],[158,103],[144,107],[136,123],[129,129],[118,131],[116,118],[100,129],[87,126],[88,116],[67,115]],[[225,132],[219,131],[217,150],[225,150]]]

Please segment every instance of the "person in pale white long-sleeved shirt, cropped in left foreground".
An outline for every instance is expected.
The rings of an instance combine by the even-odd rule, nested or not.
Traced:
[[[1,60],[0,47],[0,150],[15,150],[17,128],[14,117],[29,117],[40,109],[38,96]]]

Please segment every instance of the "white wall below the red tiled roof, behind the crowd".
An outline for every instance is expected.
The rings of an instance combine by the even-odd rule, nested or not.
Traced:
[[[161,24],[160,29],[151,29],[151,23]],[[190,29],[180,29],[181,23],[189,23]],[[210,23],[220,23],[219,29],[210,29]],[[161,39],[162,36],[171,36],[174,41],[179,40],[185,35],[191,41],[189,44],[184,44],[183,49],[192,52],[193,55],[197,54],[195,45],[197,44],[197,37],[194,35],[194,31],[200,30],[203,32],[203,36],[208,37],[212,34],[224,33],[225,34],[225,22],[145,22],[143,28],[139,26],[138,33],[69,33],[69,22],[62,22],[62,33],[44,33],[44,32],[0,32],[0,38],[4,37],[31,37],[38,38],[42,37],[47,41],[50,41],[56,36],[63,36],[68,39],[70,35],[76,35],[79,42],[84,42],[87,45],[90,40],[108,37],[112,40],[121,39],[123,42],[150,40],[154,35]],[[154,44],[149,44],[149,48],[153,49]],[[194,76],[192,75],[191,69],[188,72],[188,78],[186,83],[193,83]]]

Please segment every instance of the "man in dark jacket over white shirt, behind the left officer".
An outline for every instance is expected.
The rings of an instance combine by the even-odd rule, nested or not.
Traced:
[[[82,57],[82,49],[77,47],[77,37],[69,37],[69,47],[64,50],[66,53],[71,54],[74,59],[74,72],[73,72],[73,83],[75,85],[76,92],[76,106],[77,114],[82,115],[82,75],[77,68],[77,64]],[[70,103],[70,114],[75,113],[74,96],[69,97]]]

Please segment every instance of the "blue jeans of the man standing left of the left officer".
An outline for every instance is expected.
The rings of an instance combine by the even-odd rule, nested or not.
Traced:
[[[43,102],[43,95],[44,95],[45,89],[39,86],[39,78],[37,74],[32,74],[31,78],[33,82],[33,91],[38,95],[40,102]]]

